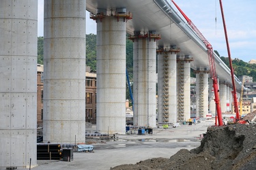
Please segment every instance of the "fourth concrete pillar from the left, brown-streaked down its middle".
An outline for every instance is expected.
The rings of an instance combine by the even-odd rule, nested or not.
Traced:
[[[134,125],[156,126],[156,41],[148,37],[133,44]]]

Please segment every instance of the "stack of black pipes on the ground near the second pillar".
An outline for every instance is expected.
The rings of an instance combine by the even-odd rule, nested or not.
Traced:
[[[38,160],[61,160],[61,145],[52,143],[40,143],[37,146]]]

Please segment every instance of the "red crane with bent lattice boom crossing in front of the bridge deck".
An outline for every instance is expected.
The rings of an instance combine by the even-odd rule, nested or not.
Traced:
[[[201,41],[203,41],[206,48],[208,49],[208,58],[209,58],[209,65],[210,65],[210,73],[212,75],[212,82],[213,82],[212,86],[214,88],[214,96],[215,96],[214,101],[216,104],[218,126],[223,126],[223,118],[222,118],[222,114],[221,114],[221,104],[220,104],[220,98],[218,95],[218,79],[217,79],[217,75],[216,75],[216,67],[215,67],[215,60],[214,60],[214,53],[212,50],[212,45],[207,41],[207,39],[205,39],[205,37],[203,37],[203,34],[199,31],[199,29],[197,29],[195,24],[193,24],[193,22],[188,18],[188,16],[186,16],[186,14],[184,14],[184,12],[182,12],[180,7],[178,7],[177,4],[173,0],[171,0],[171,1],[175,5],[175,7],[177,7],[177,10],[180,11],[182,16],[184,16],[184,18],[188,22],[188,25],[190,25],[190,27],[193,29],[193,31],[195,31],[195,33],[199,36]]]

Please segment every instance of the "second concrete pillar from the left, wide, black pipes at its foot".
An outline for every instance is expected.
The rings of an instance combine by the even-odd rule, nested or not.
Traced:
[[[44,1],[45,142],[85,142],[85,7]]]

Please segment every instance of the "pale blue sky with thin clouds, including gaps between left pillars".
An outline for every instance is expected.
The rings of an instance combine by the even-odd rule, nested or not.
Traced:
[[[213,49],[217,50],[221,56],[227,57],[219,0],[174,1],[212,44]],[[173,3],[170,0],[168,2],[177,11]],[[245,62],[256,59],[256,1],[223,0],[222,3],[231,58],[239,58]],[[44,36],[43,29],[44,0],[38,0],[38,36]],[[86,33],[96,34],[96,22],[89,19],[89,12],[86,16]]]

